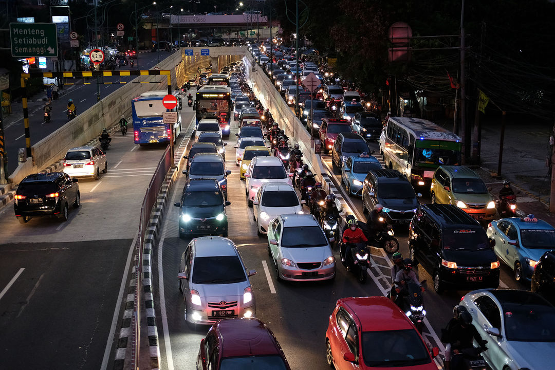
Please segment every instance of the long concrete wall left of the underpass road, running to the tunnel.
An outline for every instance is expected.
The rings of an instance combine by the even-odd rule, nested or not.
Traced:
[[[185,56],[183,51],[175,52],[156,67],[160,70],[168,69],[171,75],[172,89],[185,82],[186,74],[193,73],[196,68],[207,66],[210,57]],[[151,90],[167,90],[168,80],[166,75],[144,75],[139,76],[133,82],[127,83],[115,92],[94,104],[83,113],[78,114],[73,120],[38,141],[31,148],[31,158],[9,176],[9,182],[13,185],[19,184],[25,176],[37,173],[49,164],[63,158],[65,152],[75,146],[87,143],[87,141],[98,137],[103,128],[117,123],[120,116],[130,116],[131,100],[144,92]],[[79,107],[77,107],[79,109]],[[32,132],[31,132],[32,135]]]

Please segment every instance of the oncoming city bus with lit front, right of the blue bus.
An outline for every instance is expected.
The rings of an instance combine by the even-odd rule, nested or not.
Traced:
[[[221,133],[229,138],[231,127],[231,90],[223,85],[205,85],[196,91],[193,104],[196,115],[196,127],[201,119],[217,119]]]

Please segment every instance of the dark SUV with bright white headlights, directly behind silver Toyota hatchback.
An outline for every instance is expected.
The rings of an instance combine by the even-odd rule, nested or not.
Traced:
[[[225,207],[231,202],[224,199],[218,181],[214,179],[188,179],[183,187],[179,237],[190,235],[228,236],[228,215]]]

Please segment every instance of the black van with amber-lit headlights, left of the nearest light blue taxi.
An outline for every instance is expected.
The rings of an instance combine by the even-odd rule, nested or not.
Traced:
[[[499,261],[486,231],[457,206],[420,205],[408,230],[410,258],[433,277],[433,288],[497,288]]]

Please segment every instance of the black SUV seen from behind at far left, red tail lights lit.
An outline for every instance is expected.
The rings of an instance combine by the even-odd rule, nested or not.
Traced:
[[[69,205],[80,204],[78,180],[68,174],[52,172],[24,178],[16,190],[14,211],[22,224],[34,216],[57,216],[68,219]]]

